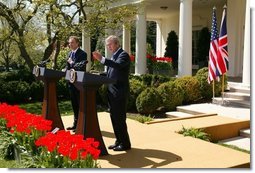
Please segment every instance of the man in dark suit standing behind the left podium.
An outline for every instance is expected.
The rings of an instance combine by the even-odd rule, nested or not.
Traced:
[[[87,53],[80,49],[79,38],[76,36],[69,37],[68,40],[71,51],[68,53],[66,69],[74,69],[76,71],[86,71]],[[74,122],[72,127],[67,130],[76,129],[79,115],[80,92],[73,83],[68,82],[71,103],[74,112]]]

